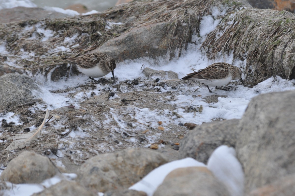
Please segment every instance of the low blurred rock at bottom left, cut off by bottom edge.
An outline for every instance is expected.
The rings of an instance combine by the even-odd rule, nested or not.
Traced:
[[[39,193],[32,196],[97,196],[77,182],[63,180]]]

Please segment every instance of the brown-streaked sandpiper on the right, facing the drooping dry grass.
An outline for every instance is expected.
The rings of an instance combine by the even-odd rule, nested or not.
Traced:
[[[223,86],[231,80],[240,79],[242,84],[245,85],[242,79],[241,69],[229,63],[213,63],[204,69],[187,74],[187,76],[182,79],[200,80],[207,86],[210,93],[212,93],[212,91],[209,89],[209,86],[215,86],[215,89],[229,91],[229,88],[222,89],[217,86]]]

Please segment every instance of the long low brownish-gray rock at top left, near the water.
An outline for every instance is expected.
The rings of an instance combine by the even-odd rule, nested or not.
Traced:
[[[47,11],[39,7],[14,7],[0,10],[0,22],[8,23],[21,20],[44,20],[45,18],[64,18],[68,17],[54,11]]]

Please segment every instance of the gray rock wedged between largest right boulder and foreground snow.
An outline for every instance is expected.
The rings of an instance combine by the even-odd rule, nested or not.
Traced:
[[[192,157],[207,163],[212,152],[221,145],[235,147],[240,120],[203,123],[185,135],[179,148],[179,158]]]

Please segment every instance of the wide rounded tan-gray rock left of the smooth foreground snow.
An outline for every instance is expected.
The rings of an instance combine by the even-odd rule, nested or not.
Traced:
[[[167,162],[161,153],[148,149],[101,154],[81,165],[78,181],[85,187],[100,192],[128,188]]]

